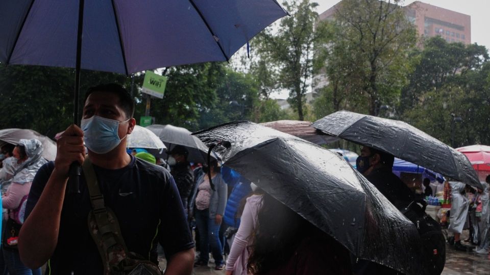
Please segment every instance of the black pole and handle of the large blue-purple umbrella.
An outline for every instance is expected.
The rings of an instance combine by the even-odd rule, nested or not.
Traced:
[[[73,105],[74,124],[80,126],[80,71],[82,67],[82,31],[83,31],[83,8],[84,0],[79,0],[78,9],[78,32],[77,32],[77,60],[75,65],[75,98]],[[82,167],[79,163],[73,162],[70,165],[68,185],[66,186],[68,194],[80,193],[80,175]]]

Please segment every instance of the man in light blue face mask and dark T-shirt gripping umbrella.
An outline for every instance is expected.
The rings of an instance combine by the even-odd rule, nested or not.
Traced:
[[[95,204],[85,164],[80,193],[65,194],[70,163],[88,161],[85,142],[103,207],[117,217],[116,235],[124,239],[127,251],[157,263],[159,241],[168,261],[166,273],[190,274],[194,243],[173,178],[126,152],[126,137],[136,123],[133,99],[123,87],[108,84],[89,89],[84,102],[82,129],[66,129],[57,142],[56,160],[46,163],[34,179],[19,235],[22,262],[39,267],[49,260],[52,274],[108,273],[94,241],[97,232],[87,224],[91,203]]]

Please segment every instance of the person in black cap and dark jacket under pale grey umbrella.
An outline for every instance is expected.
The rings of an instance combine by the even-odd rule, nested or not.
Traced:
[[[194,174],[192,173],[192,169],[190,169],[190,163],[187,161],[189,152],[184,146],[177,145],[171,148],[167,154],[171,156],[171,159],[169,159],[169,163],[171,163],[170,174],[172,174],[175,184],[177,184],[180,199],[182,200],[185,215],[187,216],[189,212],[187,202],[194,183]]]

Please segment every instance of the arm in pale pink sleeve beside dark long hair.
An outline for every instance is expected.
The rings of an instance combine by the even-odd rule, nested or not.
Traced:
[[[251,202],[250,200],[247,200],[247,203],[243,208],[243,213],[241,214],[240,227],[238,228],[235,238],[233,239],[230,254],[226,260],[227,271],[233,270],[236,259],[246,248],[249,238],[252,236],[252,232],[254,231],[254,214],[257,213],[252,213]]]

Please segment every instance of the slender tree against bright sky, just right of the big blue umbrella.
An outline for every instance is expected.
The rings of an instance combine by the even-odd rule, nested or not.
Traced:
[[[300,120],[305,117],[304,95],[312,76],[313,44],[322,35],[314,31],[318,14],[313,8],[317,5],[308,0],[284,2],[291,16],[281,19],[277,32],[266,29],[254,39],[260,60],[267,61],[257,68],[277,69],[279,88],[290,91],[288,101]]]

